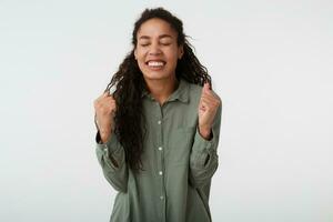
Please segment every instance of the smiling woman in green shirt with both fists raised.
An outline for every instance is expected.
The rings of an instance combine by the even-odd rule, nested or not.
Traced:
[[[97,157],[118,191],[110,221],[209,222],[221,100],[169,11],[144,10],[132,43],[94,101]]]

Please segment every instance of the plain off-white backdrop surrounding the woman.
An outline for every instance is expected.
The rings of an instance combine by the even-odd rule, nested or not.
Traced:
[[[92,103],[158,6],[222,98],[213,221],[333,221],[329,0],[0,0],[0,221],[109,221]]]

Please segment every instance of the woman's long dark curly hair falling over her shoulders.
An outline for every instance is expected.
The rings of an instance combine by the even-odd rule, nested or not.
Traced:
[[[167,21],[178,33],[178,46],[183,46],[184,53],[178,60],[175,68],[176,79],[199,85],[209,82],[211,77],[194,56],[192,46],[183,32],[183,23],[180,19],[163,8],[145,9],[139,20],[134,23],[132,32],[133,49],[127,54],[119,70],[112,77],[105,91],[115,85],[113,98],[117,104],[114,114],[114,130],[120,144],[125,151],[125,161],[134,172],[142,170],[141,153],[143,152],[143,139],[147,132],[144,114],[142,110],[142,92],[147,90],[143,74],[134,58],[134,50],[138,43],[137,33],[141,24],[150,19],[158,18]]]

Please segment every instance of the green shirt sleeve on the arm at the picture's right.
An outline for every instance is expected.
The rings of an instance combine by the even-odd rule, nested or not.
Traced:
[[[220,139],[222,103],[218,108],[216,115],[212,125],[212,138],[205,140],[196,132],[190,154],[190,183],[194,188],[203,186],[211,181],[212,175],[218,169],[218,145]]]

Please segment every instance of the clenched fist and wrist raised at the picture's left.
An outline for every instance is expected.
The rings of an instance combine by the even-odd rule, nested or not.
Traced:
[[[103,143],[105,143],[112,133],[114,124],[113,118],[117,110],[115,100],[113,99],[113,95],[109,94],[108,91],[94,100],[93,107],[101,140]]]

